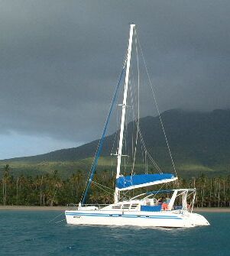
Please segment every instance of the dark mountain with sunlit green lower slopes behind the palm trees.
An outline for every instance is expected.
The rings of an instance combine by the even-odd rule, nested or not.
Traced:
[[[177,173],[181,176],[196,176],[199,173],[208,175],[228,174],[230,170],[230,110],[217,109],[212,112],[186,112],[169,110],[161,114],[167,139],[173,155]],[[145,145],[162,170],[173,171],[164,133],[159,117],[147,116],[140,119],[141,134]],[[127,134],[135,133],[134,122],[127,127]],[[117,141],[116,134],[105,138],[99,170],[115,170],[115,157],[110,156],[112,145]],[[126,146],[130,148],[124,154],[127,157],[127,168],[131,166],[131,148],[134,139],[126,137]],[[61,175],[68,177],[76,170],[86,170],[92,164],[97,141],[80,147],[73,147],[32,157],[17,157],[0,160],[0,167],[9,164],[12,172],[36,175],[39,173],[59,170]],[[116,148],[116,144],[114,148]],[[139,143],[137,169],[143,170],[143,154]],[[134,150],[132,150],[134,151]],[[115,153],[115,150],[113,151]],[[112,166],[113,163],[113,167]],[[151,166],[148,167],[151,171]]]

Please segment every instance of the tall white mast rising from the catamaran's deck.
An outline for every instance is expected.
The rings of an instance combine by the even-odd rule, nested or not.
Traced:
[[[122,112],[121,112],[121,129],[120,129],[120,138],[119,138],[119,147],[118,147],[118,165],[117,165],[116,179],[118,179],[118,177],[120,176],[120,170],[121,170],[121,152],[122,152],[123,135],[124,135],[124,127],[125,127],[125,111],[126,111],[126,102],[127,102],[127,93],[128,93],[129,70],[130,70],[130,62],[131,62],[131,45],[132,45],[134,28],[135,28],[135,24],[130,24],[126,73],[125,73],[125,89],[124,89],[124,97],[123,97]],[[119,197],[119,190],[116,187],[115,196],[114,196],[115,203],[118,203],[118,197]]]

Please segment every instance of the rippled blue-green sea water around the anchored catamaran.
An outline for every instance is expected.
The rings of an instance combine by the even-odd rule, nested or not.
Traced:
[[[230,255],[230,213],[203,214],[210,227],[68,226],[60,212],[0,212],[0,255]],[[62,220],[60,215],[57,220]]]

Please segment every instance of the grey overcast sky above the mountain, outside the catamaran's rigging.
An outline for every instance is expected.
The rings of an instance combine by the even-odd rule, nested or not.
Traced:
[[[1,0],[0,159],[99,138],[131,22],[161,112],[228,108],[229,11],[211,0]]]

